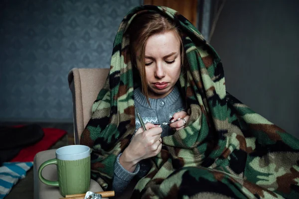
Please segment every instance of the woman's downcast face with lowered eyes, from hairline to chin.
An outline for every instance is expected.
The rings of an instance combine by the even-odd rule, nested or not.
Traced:
[[[149,98],[164,98],[173,90],[181,72],[180,41],[173,31],[149,37],[145,65]]]

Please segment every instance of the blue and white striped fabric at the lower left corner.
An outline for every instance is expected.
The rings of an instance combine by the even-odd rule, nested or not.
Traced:
[[[19,179],[26,176],[33,162],[6,162],[0,167],[0,199],[3,199]]]

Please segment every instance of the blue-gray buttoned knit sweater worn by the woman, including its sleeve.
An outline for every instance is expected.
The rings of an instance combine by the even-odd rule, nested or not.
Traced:
[[[150,99],[149,103],[146,97],[142,94],[140,88],[134,90],[134,99],[137,109],[145,123],[150,122],[153,124],[161,124],[163,122],[169,122],[169,119],[175,112],[185,110],[183,100],[180,96],[179,90],[175,87],[170,94],[161,99]],[[135,111],[135,115],[137,115]],[[138,117],[136,117],[136,130],[141,127]],[[135,130],[135,132],[136,132]],[[161,137],[171,135],[173,130],[168,126],[162,126]],[[127,171],[119,162],[121,154],[117,157],[114,168],[113,178],[113,190],[118,195],[126,189],[130,181],[135,177],[144,177],[150,169],[150,163],[148,160],[143,160],[136,166],[135,171]]]

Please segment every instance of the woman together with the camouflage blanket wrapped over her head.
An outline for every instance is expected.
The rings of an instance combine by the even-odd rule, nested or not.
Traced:
[[[175,28],[156,29],[157,18]],[[143,120],[156,115],[144,130],[134,103]],[[159,126],[167,116],[183,119]],[[226,93],[217,53],[167,7],[139,6],[122,21],[81,144],[103,189],[121,193],[139,175],[132,198],[299,197],[299,141]]]

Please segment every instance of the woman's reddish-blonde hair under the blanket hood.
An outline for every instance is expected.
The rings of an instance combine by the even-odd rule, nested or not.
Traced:
[[[130,51],[131,51],[131,61],[135,65],[140,73],[142,92],[148,100],[149,103],[149,90],[146,81],[146,69],[145,69],[145,49],[146,43],[150,36],[155,34],[161,34],[168,31],[173,31],[174,34],[180,41],[180,54],[181,54],[181,64],[184,63],[184,50],[182,43],[182,35],[177,28],[174,20],[169,17],[163,16],[159,13],[151,12],[144,13],[136,16],[129,28],[130,34]],[[140,51],[139,63],[136,63],[136,52]]]

